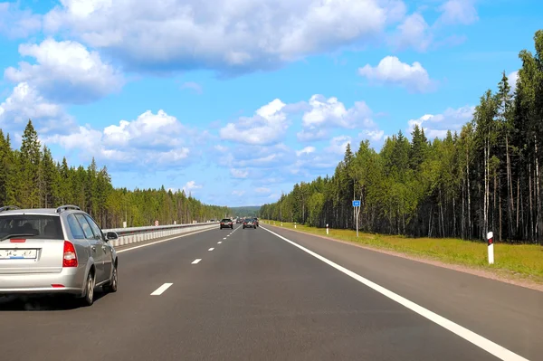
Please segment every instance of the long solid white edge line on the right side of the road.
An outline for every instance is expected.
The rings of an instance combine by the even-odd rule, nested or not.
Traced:
[[[386,296],[389,299],[394,300],[395,302],[399,303],[402,306],[405,306],[407,309],[411,309],[412,311],[418,313],[419,315],[423,316],[424,318],[427,318],[434,323],[438,324],[439,326],[448,329],[453,334],[456,334],[466,341],[471,342],[473,345],[477,347],[481,347],[483,350],[487,351],[493,356],[496,356],[500,358],[501,360],[508,360],[508,361],[528,361],[528,358],[524,358],[522,356],[519,356],[515,354],[514,352],[510,351],[509,349],[502,347],[494,342],[492,342],[490,339],[482,337],[481,335],[476,334],[475,332],[463,328],[462,326],[458,325],[457,323],[452,322],[451,320],[447,318],[443,318],[443,316],[440,316],[434,312],[432,312],[429,309],[424,309],[424,307],[417,305],[413,301],[410,301],[409,299],[405,299],[404,297],[398,295],[397,293],[386,290],[386,288],[379,286],[375,282],[372,282],[371,280],[367,280],[364,277],[358,275],[357,273],[353,271],[349,271],[345,267],[342,267],[338,265],[338,263],[335,263],[333,261],[329,261],[328,259],[322,257],[319,255],[319,253],[312,252],[308,250],[307,248],[300,246],[300,244],[296,242],[292,242],[291,240],[281,236],[278,233],[274,233],[273,231],[270,231],[267,228],[263,228],[263,230],[268,231],[269,233],[281,238],[281,240],[285,242],[291,243],[293,246],[298,247],[301,251],[309,253],[311,256],[317,258],[320,261],[323,261],[327,263],[329,266],[335,268],[338,271],[341,271],[345,274],[347,274],[349,277],[357,280],[360,283],[365,284],[367,287],[369,287],[372,290],[376,290],[377,292],[381,293],[383,296]]]

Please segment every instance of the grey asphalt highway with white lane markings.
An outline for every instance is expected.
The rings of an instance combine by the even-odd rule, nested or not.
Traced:
[[[0,359],[543,359],[543,292],[264,224],[119,249],[97,298],[1,299]]]

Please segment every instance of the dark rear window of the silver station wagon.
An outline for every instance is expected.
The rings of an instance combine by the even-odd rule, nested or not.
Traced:
[[[42,214],[0,216],[0,240],[12,237],[63,240],[61,218],[58,215]]]

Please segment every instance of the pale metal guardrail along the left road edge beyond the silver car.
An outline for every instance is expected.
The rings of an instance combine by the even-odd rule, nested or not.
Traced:
[[[170,224],[147,227],[113,228],[104,229],[103,233],[115,232],[119,235],[117,240],[112,241],[114,247],[175,236],[176,234],[188,233],[193,231],[211,229],[217,226],[219,222],[214,223],[189,223],[189,224]]]

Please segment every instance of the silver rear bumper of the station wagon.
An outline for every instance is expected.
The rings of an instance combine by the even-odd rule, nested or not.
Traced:
[[[78,268],[70,268],[57,273],[0,274],[0,294],[82,294],[80,272]]]

